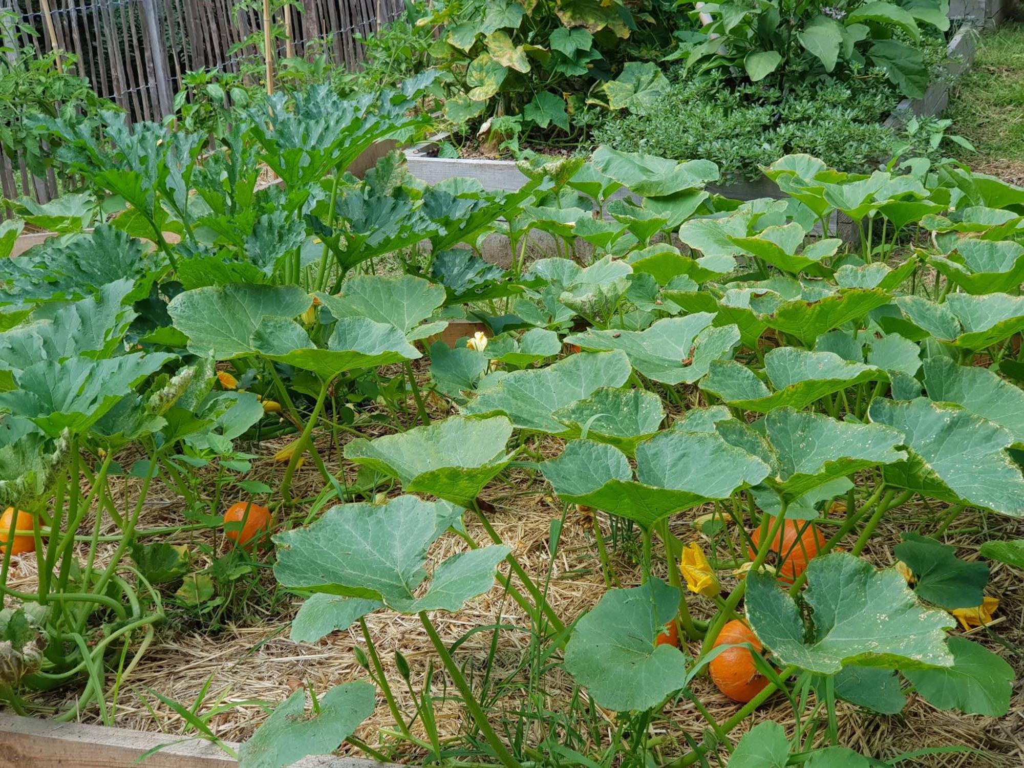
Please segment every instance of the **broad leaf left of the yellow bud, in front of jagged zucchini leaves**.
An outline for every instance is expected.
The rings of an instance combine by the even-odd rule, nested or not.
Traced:
[[[174,327],[188,337],[188,351],[228,359],[252,354],[253,334],[264,318],[291,319],[310,304],[312,299],[298,286],[236,283],[180,293],[167,305],[167,311]],[[306,343],[312,346],[308,339]]]

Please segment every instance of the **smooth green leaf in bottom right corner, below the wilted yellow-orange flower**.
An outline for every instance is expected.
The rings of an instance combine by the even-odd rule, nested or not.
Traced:
[[[950,637],[953,666],[906,670],[918,692],[940,710],[1001,717],[1010,709],[1014,670],[1001,657],[964,637]]]

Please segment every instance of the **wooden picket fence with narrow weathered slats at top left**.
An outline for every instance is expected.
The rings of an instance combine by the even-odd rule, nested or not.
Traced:
[[[237,72],[255,46],[236,50],[262,30],[262,13],[236,9],[236,0],[0,0],[37,35],[0,40],[35,47],[38,54],[58,49],[75,55],[77,74],[93,90],[122,106],[132,120],[159,121],[173,111],[182,76],[219,68]],[[260,4],[256,4],[260,5]],[[402,0],[302,0],[276,11],[286,30],[279,57],[303,56],[312,46],[333,61],[355,68],[362,48],[355,35],[377,32],[403,11]],[[2,120],[2,116],[0,116]],[[57,195],[55,180],[36,178],[24,161],[11,159],[0,143],[0,187],[46,202]],[[2,218],[2,211],[0,211]]]

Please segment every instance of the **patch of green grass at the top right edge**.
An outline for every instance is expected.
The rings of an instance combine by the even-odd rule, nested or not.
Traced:
[[[954,86],[948,117],[952,131],[978,151],[962,153],[962,160],[1024,163],[1024,23],[981,37],[974,67]]]

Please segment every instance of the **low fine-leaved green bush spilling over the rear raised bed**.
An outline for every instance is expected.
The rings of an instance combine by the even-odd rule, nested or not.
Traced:
[[[882,125],[900,97],[880,79],[802,84],[783,94],[757,85],[732,89],[721,72],[673,76],[648,114],[597,116],[594,142],[674,160],[702,158],[717,163],[723,178],[755,179],[759,166],[793,153],[863,171],[906,141]]]

